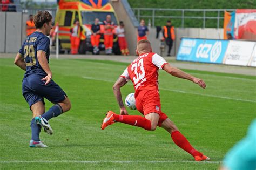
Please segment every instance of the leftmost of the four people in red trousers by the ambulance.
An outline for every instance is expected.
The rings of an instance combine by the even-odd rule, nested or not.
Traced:
[[[78,53],[79,45],[80,45],[80,32],[83,28],[80,26],[79,20],[76,19],[73,28],[71,28],[70,32],[70,42],[71,42],[71,54],[76,55]]]

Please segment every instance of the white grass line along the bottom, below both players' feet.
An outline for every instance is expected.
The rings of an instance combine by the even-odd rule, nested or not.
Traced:
[[[184,161],[184,160],[167,160],[167,161],[111,161],[111,160],[103,160],[103,161],[83,161],[83,160],[33,160],[33,161],[0,161],[0,164],[32,164],[32,163],[44,163],[44,164],[54,164],[54,163],[75,163],[75,164],[105,164],[105,163],[113,163],[113,164],[156,164],[156,163],[194,163],[194,164],[221,164],[222,161]]]

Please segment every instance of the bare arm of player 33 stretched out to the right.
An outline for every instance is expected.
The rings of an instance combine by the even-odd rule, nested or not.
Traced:
[[[206,88],[206,84],[202,79],[196,78],[188,73],[185,73],[184,71],[177,69],[176,67],[170,66],[169,64],[165,64],[163,67],[163,70],[165,70],[167,73],[171,74],[172,76],[191,80],[194,83],[198,84],[200,87],[204,89]]]

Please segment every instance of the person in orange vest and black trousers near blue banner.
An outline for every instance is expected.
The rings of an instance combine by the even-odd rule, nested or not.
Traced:
[[[166,25],[163,28],[163,36],[165,39],[165,43],[168,46],[168,54],[167,56],[171,56],[172,44],[175,39],[174,26],[172,26],[171,20],[168,20]]]

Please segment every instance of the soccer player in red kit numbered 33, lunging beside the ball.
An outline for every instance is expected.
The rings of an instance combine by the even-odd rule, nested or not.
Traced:
[[[140,40],[137,43],[137,57],[118,78],[113,86],[114,95],[120,106],[120,115],[112,111],[107,112],[102,123],[102,130],[113,123],[120,122],[132,126],[142,127],[147,131],[156,130],[157,126],[163,127],[171,134],[171,138],[176,145],[190,153],[196,161],[210,160],[194,149],[190,142],[181,134],[177,126],[161,112],[161,104],[158,91],[158,70],[163,69],[172,76],[193,81],[200,87],[206,87],[203,80],[193,77],[176,67],[172,67],[163,57],[153,53],[149,40]],[[135,89],[135,99],[137,110],[144,114],[128,115],[122,101],[120,87],[123,87],[129,80],[132,81]]]

